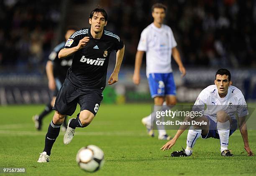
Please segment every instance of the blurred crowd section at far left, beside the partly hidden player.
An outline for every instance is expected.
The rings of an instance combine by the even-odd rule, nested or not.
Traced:
[[[0,65],[37,69],[51,50],[60,12],[57,1],[0,1]]]

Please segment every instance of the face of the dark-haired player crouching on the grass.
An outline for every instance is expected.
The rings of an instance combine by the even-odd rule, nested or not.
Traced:
[[[214,83],[217,86],[218,93],[221,98],[225,97],[226,94],[228,94],[228,87],[232,84],[231,81],[228,81],[228,75],[225,74],[217,74]]]

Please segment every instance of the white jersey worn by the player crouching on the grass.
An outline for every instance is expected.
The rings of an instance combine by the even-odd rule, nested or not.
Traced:
[[[217,112],[225,111],[232,119],[244,117],[248,115],[246,100],[243,97],[241,90],[235,86],[228,87],[228,94],[224,98],[220,98],[216,85],[210,85],[202,90],[194,104],[194,109],[203,109],[205,116],[209,116],[212,120],[217,121]]]

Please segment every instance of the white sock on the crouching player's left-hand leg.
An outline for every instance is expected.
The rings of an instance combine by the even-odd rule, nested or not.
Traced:
[[[193,147],[195,146],[195,143],[197,139],[200,137],[202,133],[202,129],[194,129],[194,126],[190,126],[189,131],[187,133],[187,147],[185,149],[185,152],[187,156],[190,156],[193,152]]]

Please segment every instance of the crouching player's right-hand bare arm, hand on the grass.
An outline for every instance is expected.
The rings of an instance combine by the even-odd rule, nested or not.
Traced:
[[[243,138],[244,149],[246,150],[248,156],[254,156],[253,151],[249,147],[246,117],[239,117],[238,122],[239,129]]]

